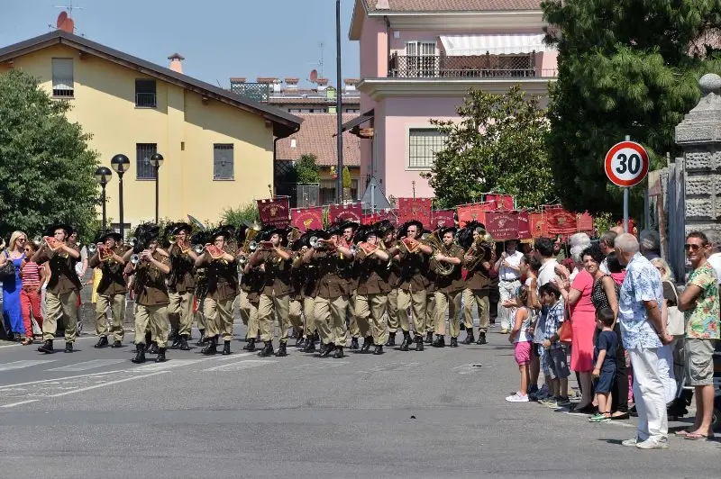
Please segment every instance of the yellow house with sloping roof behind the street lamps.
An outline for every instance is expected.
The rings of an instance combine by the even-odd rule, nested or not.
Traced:
[[[219,221],[225,208],[268,198],[273,184],[274,138],[301,119],[220,87],[187,77],[182,57],[171,68],[113,50],[68,32],[50,32],[0,49],[0,74],[18,68],[37,77],[68,119],[92,133],[100,164],[123,153],[125,229],[155,216],[155,152],[160,167],[160,217],[192,214]],[[107,186],[107,212],[119,219],[118,177]]]

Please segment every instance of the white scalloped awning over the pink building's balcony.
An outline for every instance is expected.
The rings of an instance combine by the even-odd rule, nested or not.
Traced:
[[[543,44],[543,33],[508,35],[441,35],[441,43],[449,57],[472,55],[512,55],[551,50]]]

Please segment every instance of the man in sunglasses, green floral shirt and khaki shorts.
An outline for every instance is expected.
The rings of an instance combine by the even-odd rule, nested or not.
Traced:
[[[714,348],[719,325],[718,278],[706,258],[708,239],[704,233],[690,233],[684,249],[693,271],[680,295],[679,309],[685,312],[685,377],[688,384],[694,386],[696,422],[691,429],[679,434],[687,439],[706,440],[714,435],[711,416],[714,409]]]

